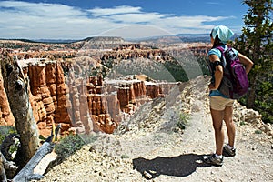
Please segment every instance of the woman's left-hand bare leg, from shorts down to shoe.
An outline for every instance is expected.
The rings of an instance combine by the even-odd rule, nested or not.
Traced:
[[[224,111],[217,111],[210,108],[210,113],[212,116],[212,122],[215,132],[215,141],[216,141],[216,154],[222,155],[223,145],[224,145],[224,130],[223,130],[223,119]]]

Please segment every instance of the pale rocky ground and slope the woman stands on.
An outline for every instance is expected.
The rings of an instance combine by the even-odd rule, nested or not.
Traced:
[[[141,106],[115,134],[87,136],[96,140],[40,181],[273,181],[272,131],[265,129],[272,126],[261,127],[257,112],[238,103],[237,156],[225,157],[222,167],[202,162],[215,148],[207,101],[207,79],[177,86]],[[187,116],[186,129],[179,129]]]

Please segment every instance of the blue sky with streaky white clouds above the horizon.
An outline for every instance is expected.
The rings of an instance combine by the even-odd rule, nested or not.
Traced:
[[[0,1],[0,38],[209,34],[215,25],[240,33],[247,10],[240,0]]]

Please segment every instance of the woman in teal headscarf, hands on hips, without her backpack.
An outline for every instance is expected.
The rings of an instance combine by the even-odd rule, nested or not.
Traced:
[[[218,46],[222,46],[227,50],[227,41],[231,38],[234,33],[224,25],[218,25],[214,27],[210,33],[210,39],[212,49],[208,52],[208,58],[210,65],[214,66],[214,74],[212,76],[212,82],[209,84],[209,104],[210,113],[212,116],[213,127],[215,131],[215,141],[216,141],[216,152],[210,157],[205,158],[205,162],[214,166],[223,165],[223,156],[234,157],[236,155],[235,148],[235,125],[232,121],[233,113],[233,103],[234,99],[225,96],[221,93],[218,88],[221,84],[223,78],[223,64],[221,62],[221,51],[217,49]],[[246,72],[250,71],[253,66],[253,62],[237,50],[233,50],[239,61],[245,66]],[[224,146],[224,130],[223,130],[223,120],[227,126],[227,136],[228,143]]]

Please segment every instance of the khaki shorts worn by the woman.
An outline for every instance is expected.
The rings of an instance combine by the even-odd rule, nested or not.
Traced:
[[[234,100],[230,98],[224,98],[222,96],[209,96],[210,108],[222,111],[226,106],[233,106]]]

